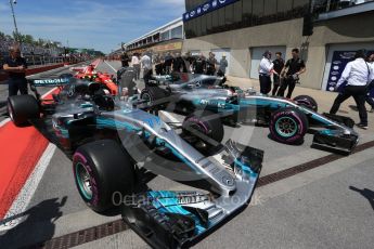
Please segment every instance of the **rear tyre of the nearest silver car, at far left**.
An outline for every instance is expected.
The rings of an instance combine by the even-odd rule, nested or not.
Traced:
[[[9,116],[15,126],[28,124],[28,120],[40,117],[39,104],[33,95],[15,95],[8,99]]]

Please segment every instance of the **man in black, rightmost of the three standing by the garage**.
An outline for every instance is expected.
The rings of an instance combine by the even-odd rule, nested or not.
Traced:
[[[281,73],[281,77],[283,77],[283,80],[281,88],[278,91],[278,96],[284,96],[284,92],[288,88],[286,97],[291,99],[295,86],[299,81],[299,75],[304,74],[307,70],[305,62],[299,57],[299,53],[300,51],[298,49],[293,49],[293,57],[289,58],[283,67]]]

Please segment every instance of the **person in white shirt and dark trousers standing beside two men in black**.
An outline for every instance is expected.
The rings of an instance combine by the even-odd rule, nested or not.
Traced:
[[[271,78],[270,75],[273,73],[274,64],[271,62],[271,52],[266,51],[258,67],[258,74],[260,79],[260,93],[268,94],[271,91]]]

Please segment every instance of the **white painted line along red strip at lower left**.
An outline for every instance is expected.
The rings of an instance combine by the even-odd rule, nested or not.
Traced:
[[[50,161],[52,159],[52,156],[54,155],[55,149],[56,149],[56,146],[54,144],[50,143],[48,145],[47,149],[44,150],[43,155],[40,157],[30,176],[27,179],[25,185],[22,187],[21,192],[18,193],[16,199],[13,201],[11,208],[8,210],[4,217],[4,220],[0,221],[0,231],[11,230],[22,222],[23,220],[22,213],[26,211],[26,208],[28,207],[48,166],[50,165]],[[12,219],[12,217],[17,217],[17,218]]]

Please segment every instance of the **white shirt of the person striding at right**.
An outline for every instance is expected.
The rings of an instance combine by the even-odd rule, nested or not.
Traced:
[[[364,87],[374,80],[374,69],[363,58],[356,58],[347,64],[336,88],[347,81],[347,86]]]

